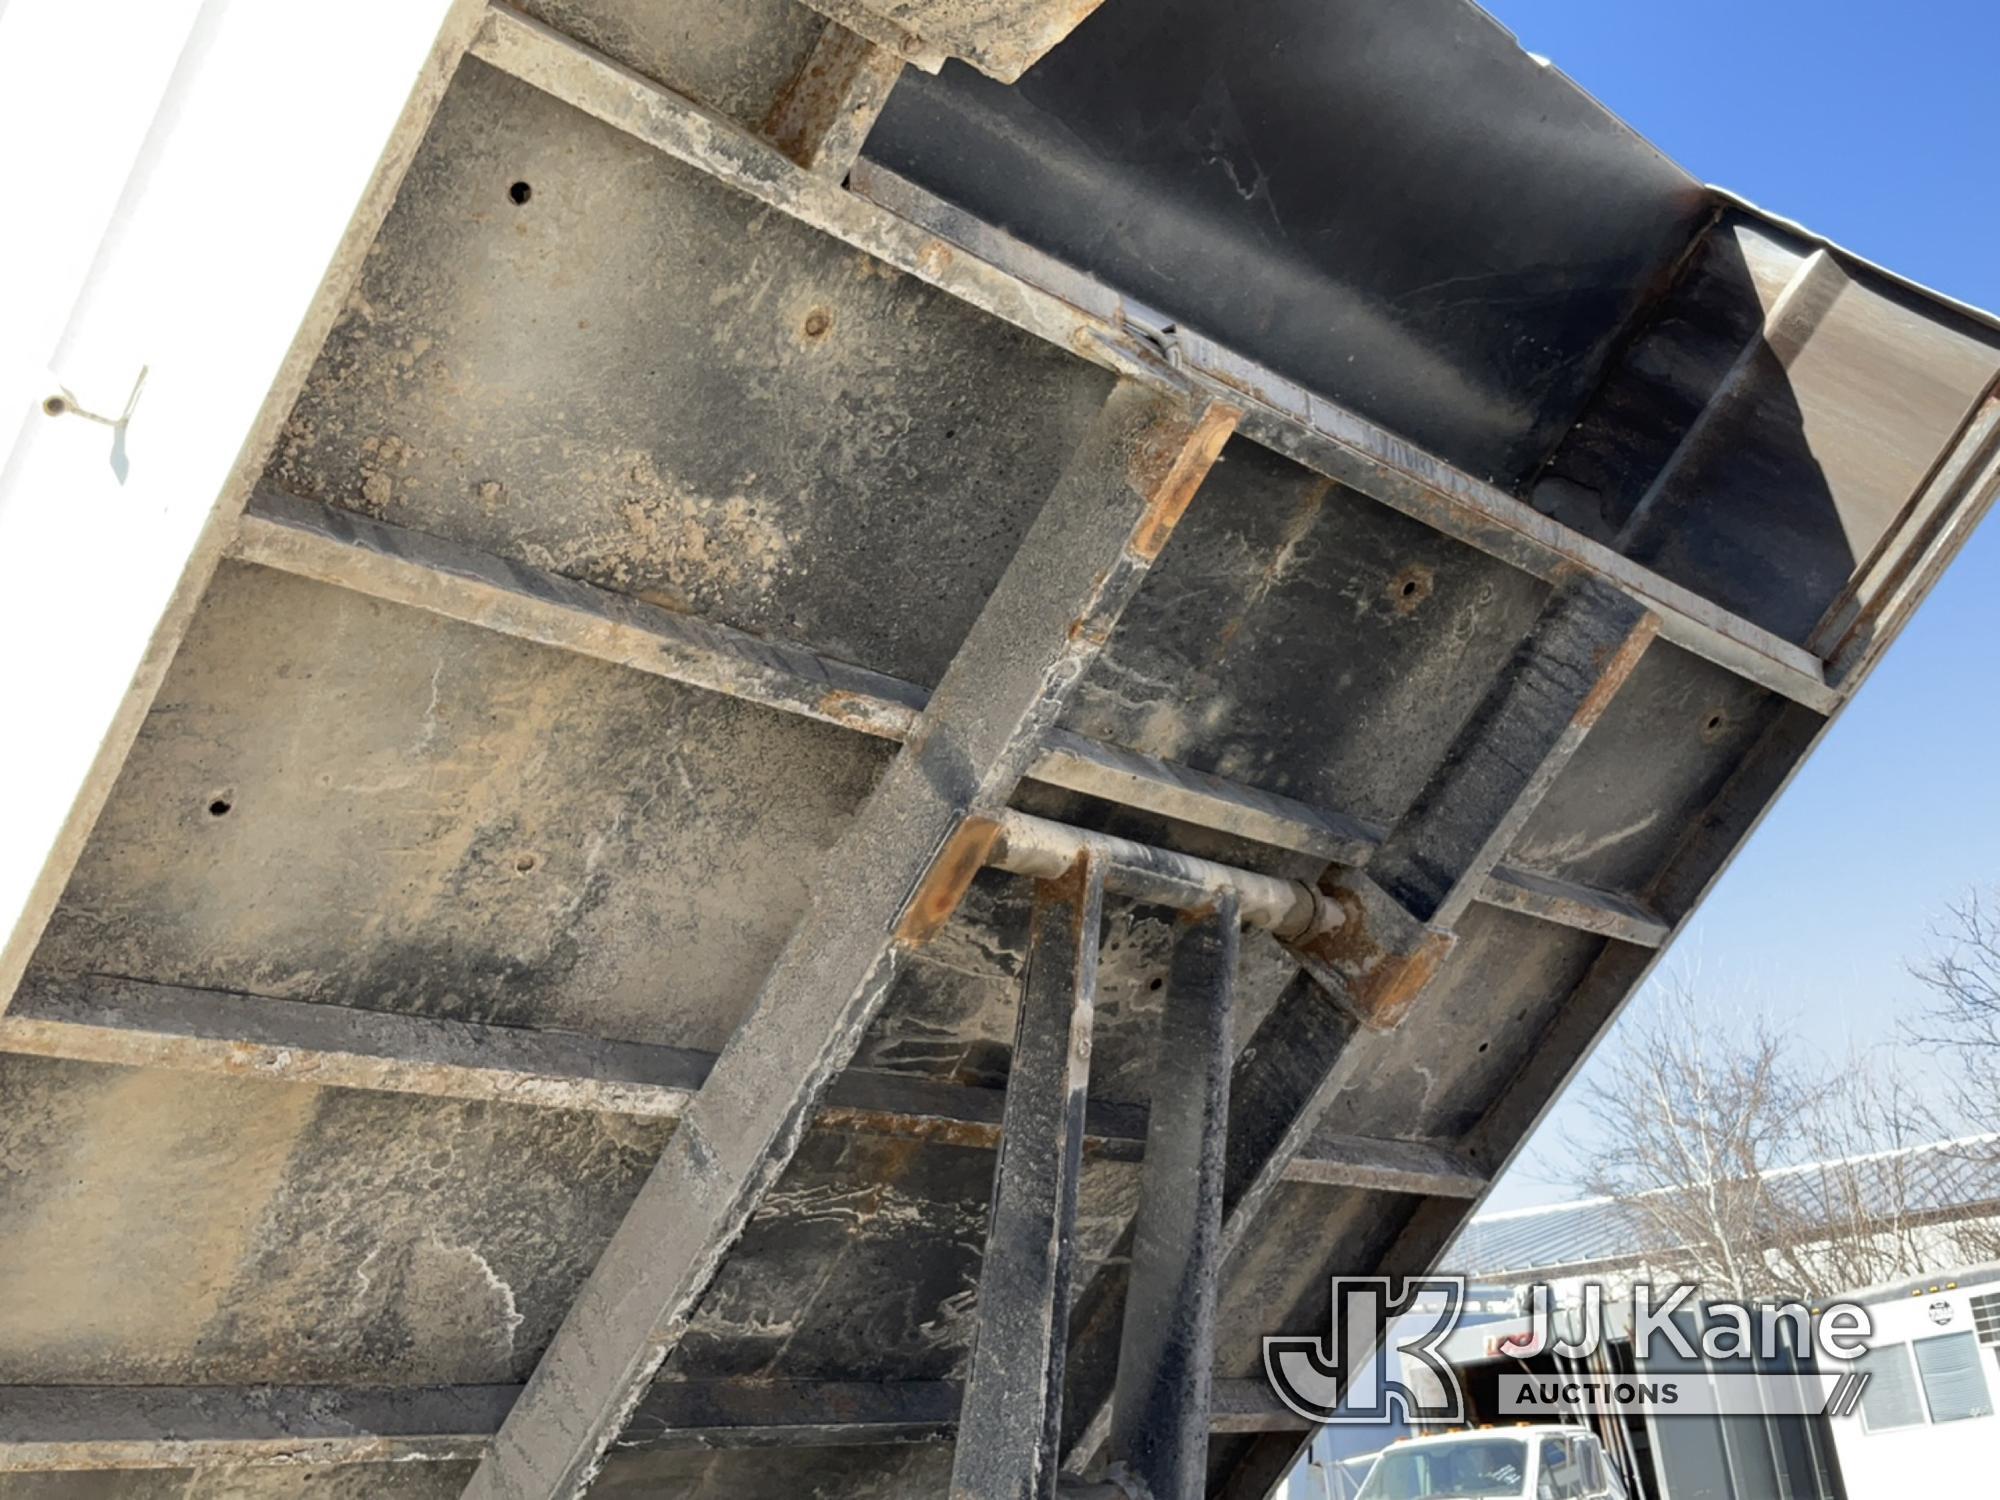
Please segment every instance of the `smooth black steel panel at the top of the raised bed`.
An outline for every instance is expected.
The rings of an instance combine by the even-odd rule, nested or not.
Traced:
[[[912,76],[870,156],[1502,484],[1708,212],[1456,0],[1108,6],[1016,88]]]

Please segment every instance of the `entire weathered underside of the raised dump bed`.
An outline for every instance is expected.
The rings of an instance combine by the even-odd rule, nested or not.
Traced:
[[[1694,912],[1992,498],[2000,334],[1460,0],[468,30],[0,1016],[0,1494],[942,1494],[1036,1318],[1098,1472],[1220,910],[1264,1496],[1262,1338],[1430,1268]]]

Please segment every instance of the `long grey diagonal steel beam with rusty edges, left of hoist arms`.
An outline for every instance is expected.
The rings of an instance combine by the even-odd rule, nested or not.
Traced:
[[[568,1500],[680,1342],[910,946],[950,920],[1014,792],[1236,412],[1120,382],[466,1486]]]

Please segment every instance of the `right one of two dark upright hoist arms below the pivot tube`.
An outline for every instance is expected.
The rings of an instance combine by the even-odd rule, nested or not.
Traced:
[[[1234,896],[1182,918],[1160,1010],[1110,1432],[1154,1500],[1198,1500],[1208,1466],[1236,930]]]

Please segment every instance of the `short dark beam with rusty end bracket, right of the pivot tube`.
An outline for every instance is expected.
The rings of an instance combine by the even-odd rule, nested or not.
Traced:
[[[1366,870],[1328,876],[1346,922],[1296,952],[1364,1024],[1386,1030],[1408,1014],[1658,628],[1600,578],[1562,584]]]

